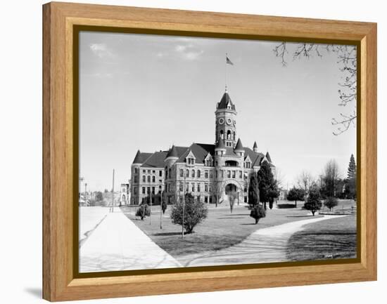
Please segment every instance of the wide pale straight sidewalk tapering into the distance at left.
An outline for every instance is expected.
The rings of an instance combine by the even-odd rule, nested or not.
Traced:
[[[182,267],[115,207],[80,248],[80,272]]]

